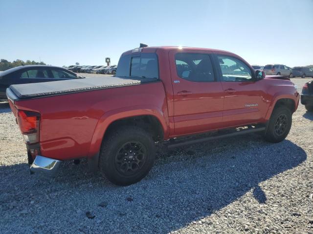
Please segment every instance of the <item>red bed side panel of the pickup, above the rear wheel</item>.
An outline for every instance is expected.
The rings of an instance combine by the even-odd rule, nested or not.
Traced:
[[[18,109],[41,113],[41,154],[60,160],[93,156],[109,124],[129,115],[156,116],[167,132],[162,82],[16,101]]]

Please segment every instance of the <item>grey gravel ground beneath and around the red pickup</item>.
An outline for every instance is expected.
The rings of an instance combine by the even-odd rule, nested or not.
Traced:
[[[293,79],[299,91],[308,80]],[[283,142],[249,135],[159,151],[146,178],[114,187],[86,162],[53,179],[29,175],[2,102],[0,233],[313,234],[313,114],[299,104],[292,118]]]

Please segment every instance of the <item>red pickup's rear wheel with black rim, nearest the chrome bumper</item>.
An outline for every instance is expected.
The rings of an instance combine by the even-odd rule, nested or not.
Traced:
[[[100,168],[115,185],[134,184],[149,173],[155,161],[155,151],[155,142],[145,130],[121,127],[109,133],[103,141]]]

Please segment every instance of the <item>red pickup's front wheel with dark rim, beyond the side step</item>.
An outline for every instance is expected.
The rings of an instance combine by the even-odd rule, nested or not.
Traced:
[[[291,123],[291,111],[286,106],[276,107],[269,118],[265,140],[272,143],[284,140],[289,134]]]

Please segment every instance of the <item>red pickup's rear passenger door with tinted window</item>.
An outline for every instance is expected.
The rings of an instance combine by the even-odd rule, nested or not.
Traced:
[[[175,135],[222,125],[224,93],[208,52],[169,53],[174,91]]]

